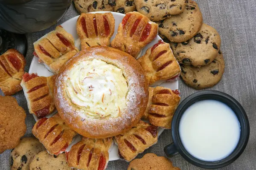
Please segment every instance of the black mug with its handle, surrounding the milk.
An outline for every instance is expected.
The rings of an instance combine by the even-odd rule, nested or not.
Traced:
[[[186,111],[186,109],[190,105],[194,104],[195,102],[206,100],[206,99],[218,100],[228,105],[236,113],[236,116],[238,117],[240,127],[241,127],[240,139],[235,150],[233,150],[233,152],[226,158],[218,161],[203,161],[195,158],[194,156],[192,156],[186,151],[185,147],[183,146],[180,140],[180,135],[179,135],[180,119],[184,111]],[[183,158],[186,159],[186,161],[189,161],[189,163],[194,164],[198,167],[210,168],[210,169],[220,168],[220,167],[227,166],[228,164],[231,164],[241,155],[241,153],[243,153],[245,147],[247,146],[249,135],[250,135],[250,126],[249,126],[248,117],[244,111],[244,108],[240,105],[240,103],[236,99],[220,91],[213,91],[213,90],[199,91],[195,94],[188,96],[177,107],[174,113],[174,116],[172,118],[173,144],[169,144],[168,146],[166,146],[164,151],[166,152],[166,155],[169,157],[175,156],[177,153],[180,153],[180,155],[183,156]]]

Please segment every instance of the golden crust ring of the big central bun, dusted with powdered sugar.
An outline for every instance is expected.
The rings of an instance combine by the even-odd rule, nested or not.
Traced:
[[[85,119],[65,91],[73,65],[85,60],[99,59],[116,65],[123,71],[128,85],[126,106],[118,117]],[[76,132],[89,138],[106,138],[130,129],[143,116],[148,102],[148,84],[143,71],[133,57],[106,46],[94,46],[80,51],[61,69],[55,83],[55,105],[61,118]]]

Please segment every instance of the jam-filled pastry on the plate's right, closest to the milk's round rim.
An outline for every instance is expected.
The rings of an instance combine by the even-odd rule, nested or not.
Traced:
[[[149,87],[148,91],[148,107],[143,119],[148,119],[154,126],[170,129],[173,114],[180,102],[180,92],[160,86],[156,88]]]

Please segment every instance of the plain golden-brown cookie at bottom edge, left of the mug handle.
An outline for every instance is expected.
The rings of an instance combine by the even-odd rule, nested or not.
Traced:
[[[141,159],[134,159],[128,166],[127,170],[180,170],[174,167],[172,162],[154,153],[147,153]]]

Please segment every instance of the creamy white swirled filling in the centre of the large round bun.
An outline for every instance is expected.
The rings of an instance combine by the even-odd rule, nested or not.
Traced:
[[[128,85],[115,65],[100,59],[84,60],[70,70],[66,92],[85,117],[115,118],[126,106]]]

